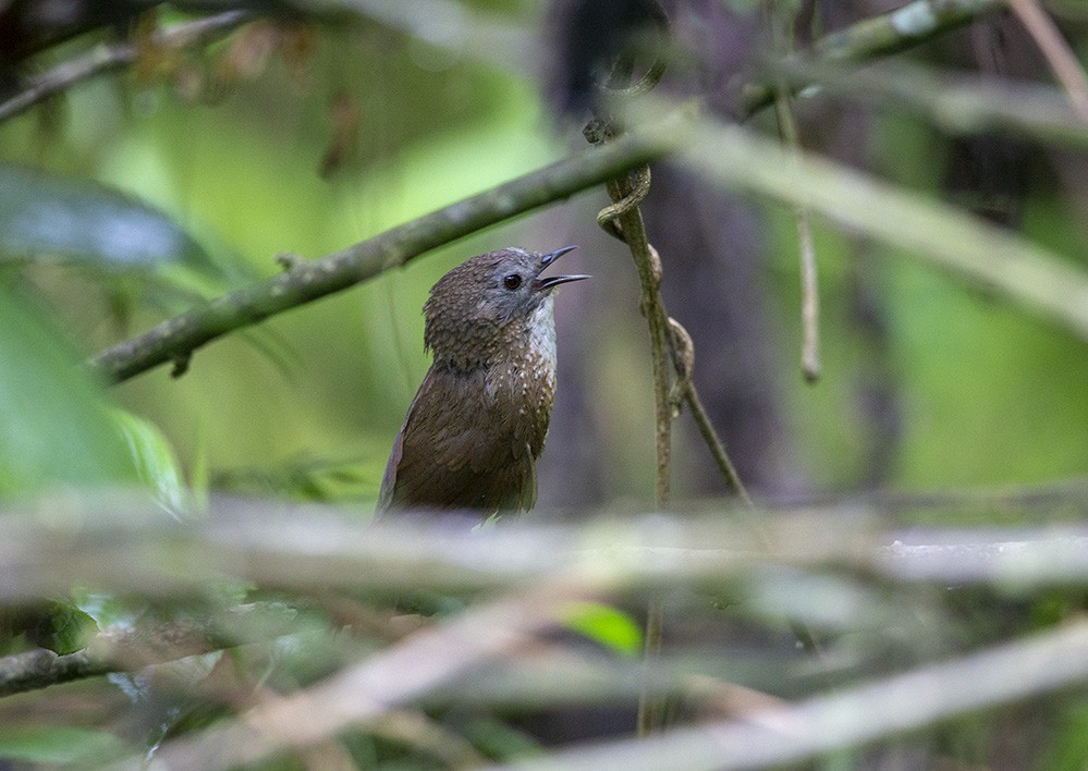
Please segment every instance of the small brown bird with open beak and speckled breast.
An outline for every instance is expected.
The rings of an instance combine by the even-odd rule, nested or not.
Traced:
[[[488,252],[431,287],[424,344],[435,360],[393,442],[378,514],[533,507],[555,399],[552,293],[589,278],[540,273],[574,248]]]

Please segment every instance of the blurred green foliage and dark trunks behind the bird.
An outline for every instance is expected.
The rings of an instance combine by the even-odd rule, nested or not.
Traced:
[[[138,15],[146,4],[115,3],[112,16],[80,20],[80,35],[42,38],[27,59],[10,48],[9,93],[91,45],[134,35],[139,48],[156,26],[216,5],[158,5]],[[806,5],[797,45],[895,4]],[[586,33],[599,21],[590,5],[273,3],[261,8],[270,17],[204,47],[168,52],[148,44],[133,66],[0,123],[0,173],[12,180],[3,191],[14,199],[3,205],[19,210],[20,196],[71,195],[88,207],[73,227],[105,230],[109,215],[95,208],[93,183],[154,207],[192,240],[191,256],[124,264],[123,255],[96,249],[94,237],[65,248],[15,234],[3,243],[9,284],[89,355],[196,297],[276,273],[278,255],[319,257],[582,149],[586,73],[599,63]],[[17,27],[17,14],[34,17],[30,7],[0,8],[9,39],[46,35],[25,21]],[[81,5],[39,10],[46,7]],[[635,9],[634,28],[639,7],[612,10]],[[713,112],[741,117],[737,84],[772,46],[774,14],[794,10],[674,3],[681,53],[662,93],[701,95]],[[1076,4],[1058,4],[1054,14],[1084,51],[1088,27]],[[1051,77],[1008,14],[897,59],[941,72]],[[795,106],[804,147],[969,207],[1084,266],[1085,154],[1003,134],[952,136],[917,112],[848,98]],[[773,110],[747,122],[777,132]],[[20,183],[30,170],[53,187]],[[200,350],[180,379],[161,368],[111,389],[109,399],[158,427],[198,486],[366,509],[428,366],[420,310],[428,287],[479,252],[574,243],[582,248],[566,267],[595,279],[558,301],[560,391],[539,464],[540,504],[648,504],[647,334],[629,256],[594,223],[607,203],[603,191],[589,191],[492,228],[230,334]],[[792,210],[731,196],[669,164],[655,168],[644,208],[670,311],[695,339],[696,381],[757,495],[1019,486],[1088,472],[1083,340],[815,218],[822,377],[807,384]],[[148,236],[137,228],[135,238]],[[48,419],[50,404],[25,406]],[[676,426],[676,495],[720,494],[689,421]],[[59,431],[35,441],[54,441]]]

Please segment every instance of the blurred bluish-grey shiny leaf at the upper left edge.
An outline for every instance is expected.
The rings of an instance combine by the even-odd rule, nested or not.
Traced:
[[[84,180],[0,166],[0,252],[89,259],[114,267],[210,265],[163,212]]]

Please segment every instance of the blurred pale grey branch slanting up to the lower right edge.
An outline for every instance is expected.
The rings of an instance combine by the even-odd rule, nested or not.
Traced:
[[[1088,622],[875,681],[743,720],[598,743],[508,768],[755,769],[796,764],[973,710],[1053,693],[1088,678]]]

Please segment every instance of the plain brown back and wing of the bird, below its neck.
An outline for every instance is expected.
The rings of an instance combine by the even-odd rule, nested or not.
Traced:
[[[393,442],[378,511],[530,509],[536,473],[518,417],[484,372],[431,367]]]

